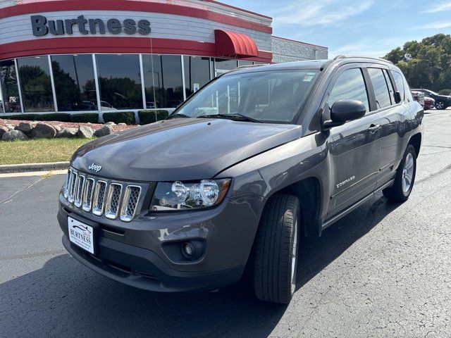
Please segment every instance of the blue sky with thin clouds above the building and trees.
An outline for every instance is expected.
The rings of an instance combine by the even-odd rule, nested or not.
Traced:
[[[404,42],[451,34],[451,1],[222,0],[273,18],[273,35],[340,54],[381,57]]]

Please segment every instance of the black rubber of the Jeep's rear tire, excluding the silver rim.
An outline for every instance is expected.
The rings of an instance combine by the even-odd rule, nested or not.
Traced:
[[[410,185],[408,189],[404,189],[403,180],[404,180],[404,169],[407,157],[409,154],[412,156],[413,160],[413,172],[410,181]],[[416,175],[416,151],[412,144],[407,146],[406,151],[404,151],[404,156],[402,157],[402,161],[400,166],[397,168],[395,182],[393,182],[393,186],[390,188],[383,189],[382,193],[388,200],[393,202],[404,202],[409,199],[410,193],[412,192],[412,188],[415,183],[415,175]],[[407,186],[406,186],[407,187]]]

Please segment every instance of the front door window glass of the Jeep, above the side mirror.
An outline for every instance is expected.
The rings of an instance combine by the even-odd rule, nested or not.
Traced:
[[[340,74],[330,91],[327,104],[330,108],[335,101],[346,99],[362,101],[366,111],[369,111],[368,91],[360,68],[348,69]]]

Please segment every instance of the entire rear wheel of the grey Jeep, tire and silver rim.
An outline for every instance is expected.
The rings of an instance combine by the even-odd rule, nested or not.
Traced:
[[[393,186],[383,189],[382,193],[388,200],[404,202],[409,199],[414,187],[416,175],[416,151],[412,144],[407,146],[400,166],[397,168]]]

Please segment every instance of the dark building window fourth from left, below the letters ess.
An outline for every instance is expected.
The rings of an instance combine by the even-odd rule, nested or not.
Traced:
[[[141,109],[140,58],[137,54],[96,56],[101,110]]]

